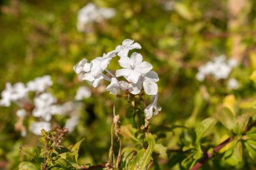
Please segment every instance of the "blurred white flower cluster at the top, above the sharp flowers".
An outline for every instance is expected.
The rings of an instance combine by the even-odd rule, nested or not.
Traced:
[[[115,16],[115,9],[106,7],[97,7],[94,3],[88,3],[78,11],[77,30],[84,32],[84,27],[88,23],[102,22],[103,19],[109,19]]]

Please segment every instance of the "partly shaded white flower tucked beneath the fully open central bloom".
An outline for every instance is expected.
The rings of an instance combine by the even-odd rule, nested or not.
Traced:
[[[140,77],[137,83],[130,83],[129,91],[133,95],[137,95],[143,85],[146,94],[156,95],[156,93],[158,93],[158,85],[156,82],[158,81],[158,74],[155,71],[150,71],[145,77]]]

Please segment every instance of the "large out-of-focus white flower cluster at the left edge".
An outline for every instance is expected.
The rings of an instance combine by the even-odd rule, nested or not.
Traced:
[[[37,77],[33,81],[29,81],[26,85],[24,83],[15,83],[13,86],[11,83],[6,83],[5,90],[2,91],[0,100],[0,106],[9,107],[11,102],[20,106],[20,110],[16,112],[17,116],[22,120],[26,116],[34,116],[38,118],[40,122],[33,122],[30,126],[30,131],[39,135],[41,129],[51,130],[51,118],[55,114],[68,114],[69,120],[66,122],[67,126],[70,126],[69,132],[72,131],[77,124],[77,114],[73,113],[77,111],[77,106],[73,102],[66,102],[63,104],[57,104],[57,99],[53,94],[46,92],[46,88],[53,85],[53,81],[49,75],[43,77]],[[83,89],[83,91],[81,91]],[[77,91],[79,97],[75,97],[75,100],[90,97],[89,89],[81,87]],[[86,91],[87,90],[87,91]],[[34,99],[31,99],[28,95],[30,91],[34,92]],[[73,118],[74,117],[74,118]],[[21,125],[22,136],[26,136],[26,128]],[[69,127],[67,127],[69,128]]]

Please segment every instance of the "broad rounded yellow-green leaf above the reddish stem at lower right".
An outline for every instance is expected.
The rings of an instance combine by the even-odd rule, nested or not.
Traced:
[[[223,108],[221,112],[217,115],[217,119],[228,129],[233,130],[236,126],[236,118],[234,114],[228,109]]]

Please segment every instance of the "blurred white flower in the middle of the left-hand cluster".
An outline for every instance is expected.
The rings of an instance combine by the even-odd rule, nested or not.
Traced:
[[[32,111],[36,118],[43,118],[45,121],[50,121],[53,114],[57,112],[54,105],[56,103],[55,97],[51,93],[42,93],[34,98],[35,108]]]

